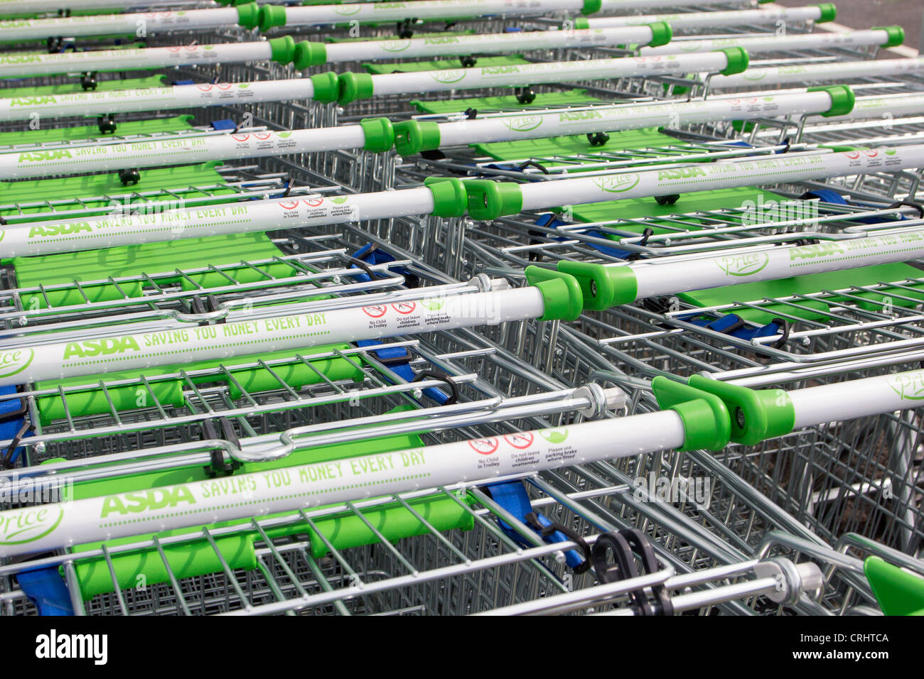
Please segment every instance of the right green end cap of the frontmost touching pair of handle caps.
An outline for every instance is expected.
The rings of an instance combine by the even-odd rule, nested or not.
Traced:
[[[784,436],[796,424],[796,410],[783,389],[748,389],[702,375],[693,375],[687,384],[723,400],[731,413],[731,440],[736,443],[754,445]]]

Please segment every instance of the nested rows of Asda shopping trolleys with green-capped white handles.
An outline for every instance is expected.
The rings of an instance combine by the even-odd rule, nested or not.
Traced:
[[[0,612],[924,612],[924,61],[833,5],[0,3]]]

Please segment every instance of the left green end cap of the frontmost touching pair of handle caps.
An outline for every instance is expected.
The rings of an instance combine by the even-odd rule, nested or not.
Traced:
[[[674,410],[683,420],[684,444],[677,450],[717,451],[728,445],[731,420],[721,398],[663,375],[651,380],[651,391],[658,406]]]

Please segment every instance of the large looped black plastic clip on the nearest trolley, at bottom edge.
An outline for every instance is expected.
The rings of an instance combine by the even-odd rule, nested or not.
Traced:
[[[613,554],[613,562],[610,561]],[[639,574],[636,557],[641,562]],[[658,558],[651,543],[638,528],[623,528],[615,533],[603,533],[594,542],[593,569],[602,583],[627,580],[639,575],[650,575],[660,570]],[[650,587],[654,600],[649,600],[645,589],[629,592],[632,610],[637,615],[674,615],[674,604],[663,584]]]

